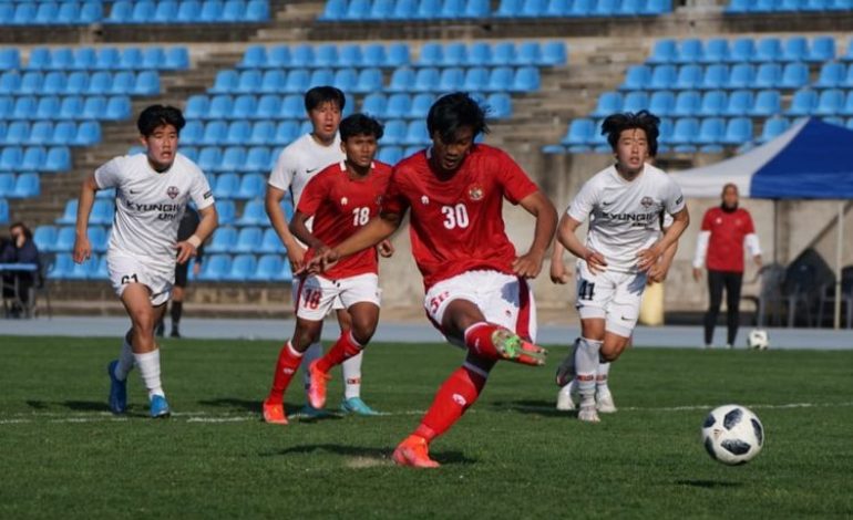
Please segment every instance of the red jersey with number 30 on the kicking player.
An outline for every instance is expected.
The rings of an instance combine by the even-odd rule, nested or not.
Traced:
[[[382,211],[411,209],[412,254],[429,290],[475,269],[512,273],[515,247],[506,237],[503,199],[518,204],[538,190],[505,152],[474,145],[456,174],[439,178],[423,150],[394,166]]]

